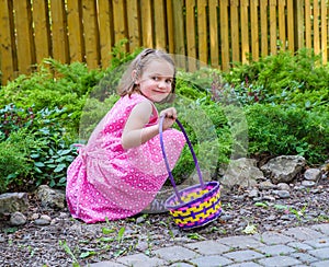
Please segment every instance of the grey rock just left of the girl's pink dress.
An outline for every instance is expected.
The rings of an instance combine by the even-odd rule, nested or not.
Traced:
[[[41,185],[37,188],[36,196],[42,202],[42,206],[64,209],[65,207],[65,193],[58,189],[53,189],[47,185]]]

